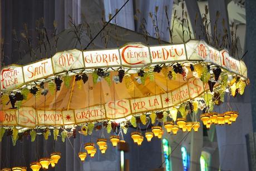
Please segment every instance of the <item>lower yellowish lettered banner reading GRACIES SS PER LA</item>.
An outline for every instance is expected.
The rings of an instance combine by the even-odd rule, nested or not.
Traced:
[[[188,80],[179,89],[161,95],[137,99],[120,99],[98,106],[90,106],[68,111],[35,110],[32,107],[21,107],[19,110],[4,110],[3,126],[37,126],[77,125],[88,122],[117,120],[136,113],[144,113],[163,108],[174,107],[182,102],[200,97],[209,89],[195,77]]]

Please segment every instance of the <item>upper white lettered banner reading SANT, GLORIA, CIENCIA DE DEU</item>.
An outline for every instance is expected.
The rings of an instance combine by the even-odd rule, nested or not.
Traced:
[[[206,61],[247,78],[247,68],[243,61],[232,58],[228,50],[219,51],[203,40],[190,40],[185,44],[153,46],[130,43],[120,49],[67,50],[56,53],[51,59],[25,66],[6,66],[0,75],[1,91],[18,89],[29,82],[71,70],[112,66],[140,68],[150,64],[179,61]]]

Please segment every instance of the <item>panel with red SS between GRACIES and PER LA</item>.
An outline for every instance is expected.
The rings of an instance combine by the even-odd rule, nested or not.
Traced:
[[[110,119],[125,118],[131,114],[130,102],[127,99],[107,102],[105,109],[106,117]]]

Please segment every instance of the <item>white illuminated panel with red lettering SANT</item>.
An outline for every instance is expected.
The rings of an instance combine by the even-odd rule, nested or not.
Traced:
[[[53,75],[52,60],[45,59],[37,63],[23,66],[25,82],[35,81]]]

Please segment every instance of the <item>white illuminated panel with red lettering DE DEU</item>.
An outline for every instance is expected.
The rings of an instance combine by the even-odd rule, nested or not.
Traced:
[[[186,60],[184,44],[150,46],[152,63]]]

